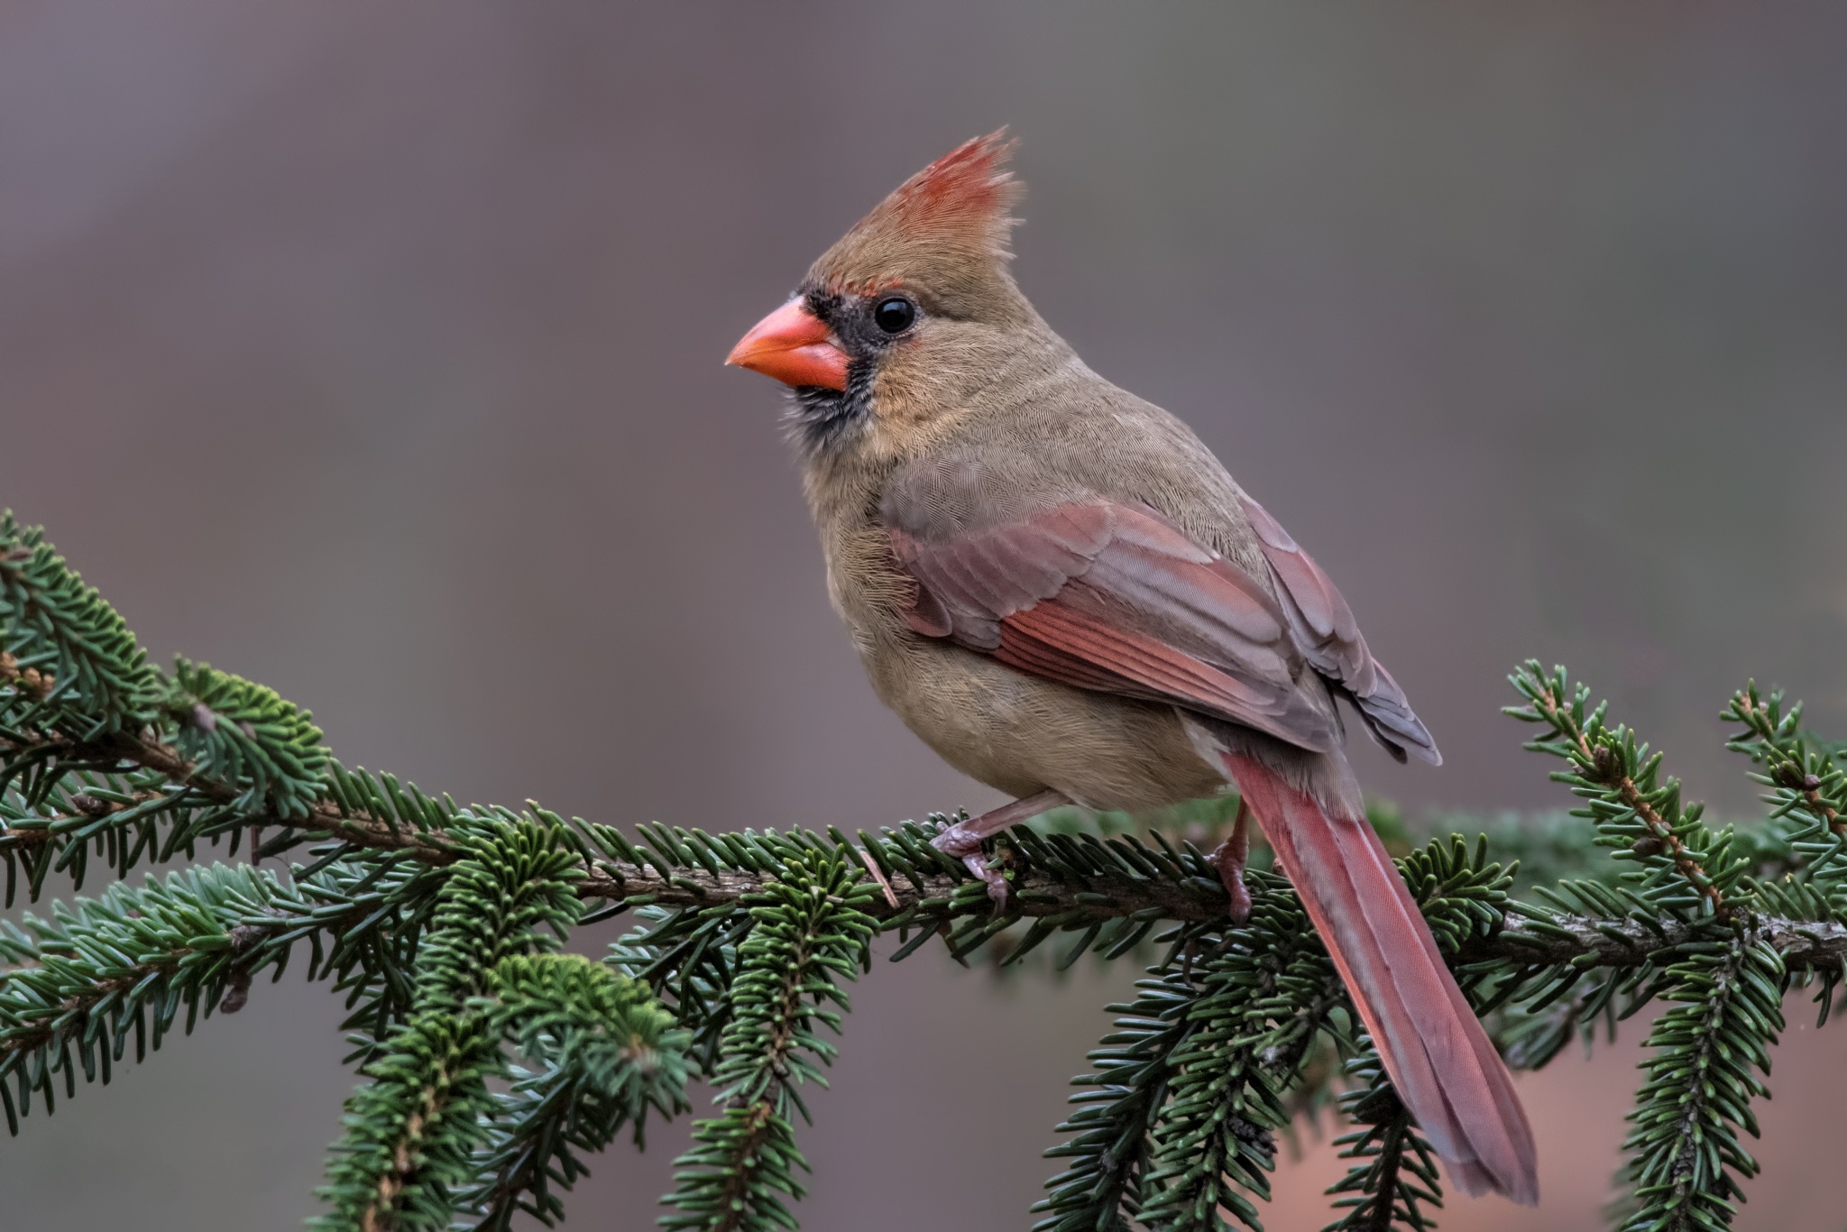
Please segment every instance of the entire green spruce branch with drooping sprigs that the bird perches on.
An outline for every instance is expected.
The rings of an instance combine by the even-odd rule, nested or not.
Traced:
[[[1400,872],[1457,983],[1507,1049],[1542,1066],[1596,1023],[1655,999],[1648,1077],[1627,1138],[1625,1232],[1727,1226],[1756,1162],[1753,1099],[1768,1090],[1781,996],[1819,983],[1823,1020],[1847,977],[1843,748],[1801,728],[1781,695],[1740,691],[1725,719],[1771,816],[1707,826],[1636,735],[1590,707],[1563,669],[1515,674],[1557,755],[1574,818],[1409,850]],[[837,829],[706,833],[456,805],[334,761],[307,711],[185,659],[146,661],[120,617],[52,552],[0,517],[0,859],[39,900],[54,872],[100,898],[0,927],[0,1105],[17,1130],[33,1097],[107,1081],[135,1036],[235,1012],[253,977],[308,949],[310,979],[345,997],[368,1084],[347,1103],[321,1228],[508,1228],[563,1217],[585,1158],[648,1114],[722,1110],[680,1160],[680,1228],[792,1228],[807,1164],[794,1117],[824,1082],[870,940],[892,959],[942,940],[1003,964],[1064,935],[1060,966],[1151,946],[1116,1031],[1053,1154],[1069,1167],[1036,1208],[1042,1230],[1258,1226],[1278,1130],[1343,1084],[1359,1129],[1335,1186],[1335,1228],[1428,1226],[1431,1153],[1370,1047],[1348,1038],[1345,988],[1280,877],[1254,870],[1232,925],[1201,853],[1228,800],[1158,818],[1060,816],[986,844],[1010,887],[986,887],[931,846],[931,816],[848,839]],[[1389,809],[1378,813],[1387,826]],[[1105,824],[1108,822],[1108,824]],[[1387,833],[1396,833],[1389,831]],[[133,868],[207,842],[288,872],[211,864],[129,887]],[[1406,844],[1409,846],[1409,844]],[[1489,850],[1502,857],[1489,859]],[[1592,866],[1585,848],[1609,848]],[[1404,850],[1396,846],[1393,850]],[[1540,874],[1516,883],[1509,853]],[[1515,885],[1520,896],[1515,898]],[[1531,888],[1524,888],[1524,887]],[[552,953],[584,920],[635,911],[606,962]],[[517,1068],[513,1055],[532,1068]],[[502,1093],[497,1084],[506,1082]]]

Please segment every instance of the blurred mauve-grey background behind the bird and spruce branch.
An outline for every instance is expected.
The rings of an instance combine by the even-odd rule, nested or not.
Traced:
[[[1539,656],[1744,815],[1732,687],[1847,735],[1843,115],[1823,6],[4,0],[0,504],[157,656],[460,800],[992,805],[866,689],[781,395],[720,358],[1010,124],[1027,292],[1319,556],[1443,743],[1435,772],[1361,746],[1372,791],[1563,805],[1496,713]],[[1029,1226],[1127,977],[881,964],[803,1226]],[[33,1116],[4,1223],[297,1226],[338,1016],[259,986]],[[1522,1079],[1539,1210],[1444,1228],[1592,1226],[1640,1036]],[[1792,1027],[1742,1228],[1838,1226],[1840,1058]],[[652,1226],[682,1143],[613,1149],[571,1226]],[[1310,1143],[1269,1226],[1321,1226],[1337,1175]]]

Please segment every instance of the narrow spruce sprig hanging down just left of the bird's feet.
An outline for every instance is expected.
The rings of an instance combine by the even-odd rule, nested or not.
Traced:
[[[818,1066],[835,1055],[815,1023],[840,1031],[848,1003],[837,981],[853,979],[868,960],[875,927],[863,909],[875,890],[861,877],[859,861],[844,852],[807,850],[787,859],[748,903],[752,929],[737,946],[731,1018],[713,1071],[722,1084],[717,1103],[726,1108],[693,1127],[694,1145],[680,1156],[674,1193],[665,1199],[676,1214],[663,1215],[661,1226],[796,1226],[778,1197],[803,1195],[794,1169],[805,1171],[807,1162],[791,1114],[809,1119],[796,1086],[826,1086]]]

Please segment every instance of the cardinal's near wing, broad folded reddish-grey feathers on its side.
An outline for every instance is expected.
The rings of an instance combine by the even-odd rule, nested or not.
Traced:
[[[981,528],[916,525],[929,521],[888,517],[892,554],[918,584],[916,632],[1079,689],[1335,748],[1339,720],[1302,685],[1291,617],[1153,508],[1080,497]]]

